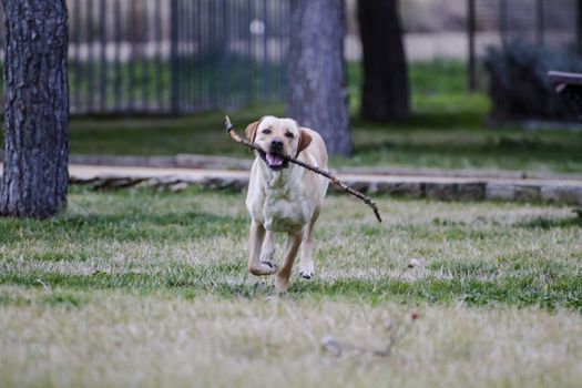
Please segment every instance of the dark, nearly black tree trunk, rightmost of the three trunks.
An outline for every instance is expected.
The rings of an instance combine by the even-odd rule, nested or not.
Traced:
[[[391,122],[410,114],[398,0],[359,0],[364,59],[361,119]]]

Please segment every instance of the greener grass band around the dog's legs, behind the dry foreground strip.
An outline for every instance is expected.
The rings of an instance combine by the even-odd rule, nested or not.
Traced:
[[[582,309],[582,224],[564,208],[381,200],[389,221],[378,225],[365,206],[338,212],[347,201],[331,197],[317,231],[321,277],[294,282],[292,294]],[[2,221],[0,284],[256,292],[238,194],[80,192],[71,208],[48,222]],[[413,257],[426,268],[407,270]]]

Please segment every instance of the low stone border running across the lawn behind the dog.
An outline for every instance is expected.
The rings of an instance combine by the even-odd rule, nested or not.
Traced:
[[[218,174],[219,173],[219,174]],[[439,201],[504,201],[532,202],[545,201],[582,205],[582,182],[573,181],[509,181],[509,180],[463,180],[463,178],[427,178],[425,176],[341,176],[346,184],[354,188],[374,194],[387,194],[410,198],[431,198]],[[243,192],[248,184],[247,173],[184,171],[183,174],[71,174],[72,184],[90,185],[94,190],[131,187],[139,184],[167,188],[173,192],[196,185],[208,190],[231,190]],[[340,188],[330,185],[330,190]]]

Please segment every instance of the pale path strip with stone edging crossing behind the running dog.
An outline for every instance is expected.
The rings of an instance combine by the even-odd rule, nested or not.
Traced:
[[[192,184],[244,191],[248,183],[248,172],[241,170],[72,164],[69,172],[72,184],[91,185],[94,188],[129,187],[145,183],[173,191],[184,190]],[[520,178],[509,175],[340,173],[338,176],[348,185],[369,194],[442,201],[548,201],[582,205],[582,177],[578,175]]]

